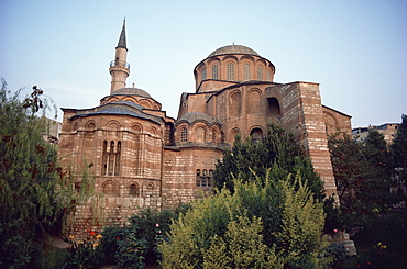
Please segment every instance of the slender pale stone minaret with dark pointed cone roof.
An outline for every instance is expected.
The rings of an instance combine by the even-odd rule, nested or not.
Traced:
[[[116,47],[114,60],[110,63],[111,87],[110,94],[116,90],[125,87],[125,79],[130,74],[130,65],[127,63],[128,47],[125,42],[125,19],[123,21],[123,29],[121,30],[118,46]]]

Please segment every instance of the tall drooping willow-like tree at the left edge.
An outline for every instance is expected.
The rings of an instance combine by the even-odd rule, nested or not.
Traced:
[[[73,172],[58,166],[54,145],[44,141],[51,100],[36,86],[20,100],[2,80],[0,89],[0,267],[25,267],[34,235],[58,233],[77,202]],[[84,171],[84,181],[91,180]],[[90,186],[90,184],[89,184]]]

